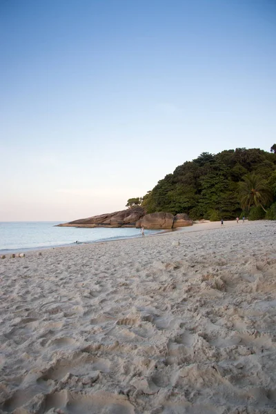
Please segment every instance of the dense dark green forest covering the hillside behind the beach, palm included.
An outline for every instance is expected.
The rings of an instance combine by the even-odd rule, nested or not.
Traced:
[[[129,199],[127,206],[131,206]],[[158,181],[137,204],[147,213],[187,213],[192,219],[276,219],[276,145],[203,152]]]

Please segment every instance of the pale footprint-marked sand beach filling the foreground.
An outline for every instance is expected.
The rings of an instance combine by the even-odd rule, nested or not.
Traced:
[[[2,259],[1,413],[275,414],[275,239],[234,221]]]

